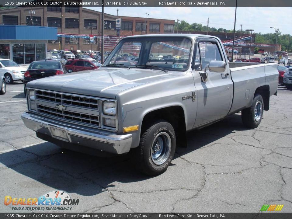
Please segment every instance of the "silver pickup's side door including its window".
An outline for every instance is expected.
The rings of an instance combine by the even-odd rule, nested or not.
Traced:
[[[212,60],[227,63],[225,71],[210,71],[208,65]],[[196,39],[192,73],[198,101],[194,127],[226,116],[231,107],[233,83],[228,61],[216,39],[207,37]]]

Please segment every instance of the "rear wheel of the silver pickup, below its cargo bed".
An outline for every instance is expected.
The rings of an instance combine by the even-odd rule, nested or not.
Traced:
[[[253,98],[252,105],[249,108],[242,110],[242,122],[249,128],[256,128],[262,121],[263,113],[264,101],[260,94],[256,94]]]

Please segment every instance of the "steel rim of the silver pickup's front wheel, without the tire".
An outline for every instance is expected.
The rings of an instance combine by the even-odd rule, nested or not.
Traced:
[[[151,144],[151,159],[155,165],[162,165],[170,155],[171,139],[169,134],[161,132],[157,134]]]

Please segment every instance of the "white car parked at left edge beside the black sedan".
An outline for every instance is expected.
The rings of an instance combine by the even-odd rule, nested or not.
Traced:
[[[4,74],[7,84],[12,84],[13,81],[22,80],[26,68],[19,66],[16,62],[10,59],[0,59],[0,73]]]

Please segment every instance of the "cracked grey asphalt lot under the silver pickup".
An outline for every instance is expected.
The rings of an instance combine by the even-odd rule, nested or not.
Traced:
[[[80,200],[68,212],[260,212],[264,204],[292,212],[292,91],[284,87],[258,128],[246,129],[237,113],[189,132],[188,147],[156,177],[137,172],[130,155],[100,158],[38,139],[20,118],[21,82],[7,85],[0,107],[0,212],[12,212],[5,196],[55,190]]]

